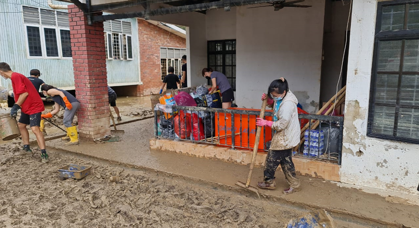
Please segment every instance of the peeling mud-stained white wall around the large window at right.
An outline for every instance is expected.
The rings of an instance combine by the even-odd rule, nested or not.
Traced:
[[[419,145],[367,137],[377,1],[353,1],[341,182],[417,194]]]

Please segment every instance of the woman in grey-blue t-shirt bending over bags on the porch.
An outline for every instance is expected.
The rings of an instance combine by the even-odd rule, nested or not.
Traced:
[[[202,77],[212,82],[210,94],[215,92],[218,86],[222,95],[222,108],[230,108],[234,101],[234,92],[227,77],[221,72],[213,71],[210,67],[202,69]]]

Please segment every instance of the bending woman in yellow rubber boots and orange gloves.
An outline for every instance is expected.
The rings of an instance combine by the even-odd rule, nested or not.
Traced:
[[[61,89],[57,89],[53,86],[44,84],[41,86],[41,90],[46,97],[51,97],[55,102],[55,108],[51,112],[42,115],[42,118],[52,118],[58,111],[60,106],[65,108],[64,118],[62,123],[67,128],[67,136],[61,138],[62,140],[70,140],[66,145],[77,145],[79,144],[79,138],[77,134],[77,126],[73,126],[73,119],[76,115],[76,111],[80,107],[80,102],[71,95],[69,92]]]

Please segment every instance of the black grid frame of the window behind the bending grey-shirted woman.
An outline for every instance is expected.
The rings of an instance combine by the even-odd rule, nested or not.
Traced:
[[[229,51],[227,51],[226,50],[226,43],[227,42],[236,42],[236,45],[235,45],[236,48],[235,48],[235,50],[229,50]],[[210,51],[210,44],[211,43],[222,43],[222,51]],[[208,66],[211,66],[210,65],[210,55],[222,55],[222,72],[221,73],[223,73],[225,75],[225,66],[226,66],[226,64],[225,64],[225,55],[234,54],[234,55],[236,55],[236,61],[237,61],[236,50],[237,50],[237,41],[235,39],[234,40],[207,41],[207,65]],[[233,59],[232,59],[232,61],[233,61]],[[233,62],[232,62],[232,65],[228,65],[228,66],[232,66],[232,67],[234,67],[234,70],[236,70],[237,62],[236,62],[236,64],[233,64]],[[213,69],[213,70],[215,70],[215,69]],[[228,77],[228,75],[225,75],[225,76],[227,77],[227,79],[231,79],[232,81],[233,81],[233,79],[235,80],[234,85],[231,85],[231,86],[232,86],[233,91],[236,91],[237,74],[236,74],[236,76],[234,76],[234,73],[233,72],[234,71],[232,69],[232,76],[231,77]],[[208,80],[208,85],[211,85],[211,80]]]

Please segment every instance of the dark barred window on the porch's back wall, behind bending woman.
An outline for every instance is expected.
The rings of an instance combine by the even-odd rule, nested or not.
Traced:
[[[225,74],[236,91],[236,40],[208,41],[208,66]]]

